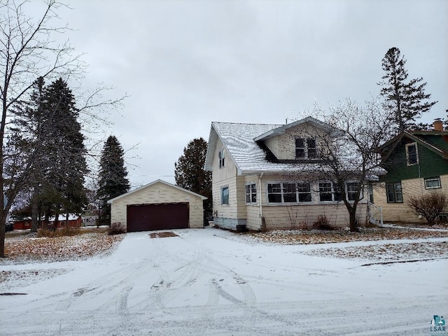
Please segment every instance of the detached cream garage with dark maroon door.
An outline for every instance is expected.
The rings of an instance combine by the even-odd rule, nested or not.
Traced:
[[[158,180],[108,203],[111,223],[123,223],[127,232],[135,232],[202,228],[204,200],[207,197]]]

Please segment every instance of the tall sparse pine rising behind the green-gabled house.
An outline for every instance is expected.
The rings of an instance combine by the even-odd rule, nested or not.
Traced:
[[[421,113],[430,110],[437,102],[425,102],[430,94],[424,92],[423,78],[407,81],[406,60],[400,55],[400,49],[390,48],[382,60],[385,74],[378,85],[381,85],[381,95],[386,99],[386,106],[394,112],[393,122],[399,132],[414,126],[416,118]]]

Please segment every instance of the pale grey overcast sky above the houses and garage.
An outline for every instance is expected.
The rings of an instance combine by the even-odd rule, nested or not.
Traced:
[[[34,3],[35,5],[35,3]],[[76,0],[60,10],[90,65],[85,87],[127,93],[113,112],[133,187],[174,183],[188,141],[212,121],[284,123],[317,102],[379,94],[381,59],[398,47],[409,78],[423,77],[448,109],[448,1]],[[138,157],[138,158],[137,158]]]

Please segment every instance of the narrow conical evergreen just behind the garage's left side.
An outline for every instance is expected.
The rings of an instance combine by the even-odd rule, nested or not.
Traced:
[[[101,200],[99,223],[111,225],[111,205],[108,200],[127,193],[130,183],[125,167],[125,152],[118,139],[111,135],[104,143],[99,161],[98,198]]]

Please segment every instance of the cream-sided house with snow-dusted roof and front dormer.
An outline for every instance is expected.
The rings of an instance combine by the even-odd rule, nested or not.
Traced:
[[[230,230],[291,229],[325,218],[330,225],[348,226],[340,192],[322,177],[319,160],[322,139],[336,134],[311,117],[287,125],[211,123],[205,169],[212,172],[214,224]],[[346,188],[351,197],[353,183]],[[365,222],[367,200],[356,215]]]

